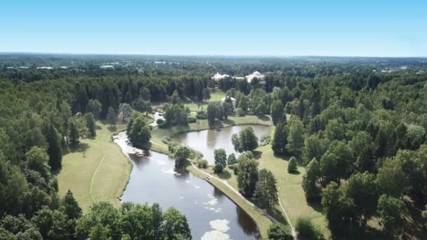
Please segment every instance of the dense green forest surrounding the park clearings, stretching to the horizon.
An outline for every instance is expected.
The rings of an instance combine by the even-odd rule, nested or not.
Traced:
[[[255,71],[265,77],[233,77]],[[216,81],[217,72],[229,76]],[[100,203],[83,215],[71,192],[58,196],[55,174],[70,147],[96,134],[96,120],[168,101],[166,124],[185,125],[192,120],[176,117],[186,111],[179,101],[205,100],[216,88],[235,98],[235,111],[212,103],[197,118],[271,115],[272,150],[306,166],[306,198],[322,208],[332,237],[372,234],[378,220],[380,234],[397,238],[414,231],[409,214],[427,227],[424,58],[2,54],[0,239],[191,238],[173,208]],[[131,122],[150,134],[142,117]]]

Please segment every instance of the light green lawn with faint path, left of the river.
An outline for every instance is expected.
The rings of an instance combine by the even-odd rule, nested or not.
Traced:
[[[95,139],[81,140],[77,149],[63,156],[63,167],[58,173],[58,193],[63,196],[70,189],[87,213],[96,201],[110,201],[119,206],[121,196],[129,180],[132,165],[112,141],[112,131],[97,122]],[[124,125],[117,126],[123,131]]]

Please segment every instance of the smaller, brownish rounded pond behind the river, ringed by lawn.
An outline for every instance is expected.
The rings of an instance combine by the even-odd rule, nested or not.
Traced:
[[[180,133],[175,135],[174,140],[201,152],[203,154],[203,158],[208,161],[209,165],[213,165],[213,150],[215,149],[223,148],[227,155],[232,153],[236,154],[236,156],[239,155],[231,143],[231,135],[239,133],[239,131],[247,127],[248,126],[232,126],[229,128],[219,128],[217,130],[211,129],[198,132]],[[254,133],[258,137],[258,140],[261,140],[261,137],[264,135],[270,134],[269,126],[251,125],[251,128],[254,129]]]

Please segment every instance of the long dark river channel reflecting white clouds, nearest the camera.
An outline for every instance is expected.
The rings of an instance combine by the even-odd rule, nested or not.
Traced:
[[[164,210],[171,206],[178,208],[188,219],[193,239],[258,239],[254,220],[208,182],[188,171],[174,169],[173,159],[165,154],[150,151],[144,152],[144,156],[129,154],[134,149],[128,145],[124,132],[114,142],[133,163],[123,201],[157,202]],[[230,139],[228,142],[231,144]]]

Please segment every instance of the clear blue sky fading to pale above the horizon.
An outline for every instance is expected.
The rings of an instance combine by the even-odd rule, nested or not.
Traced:
[[[14,0],[0,52],[427,56],[427,1]]]

